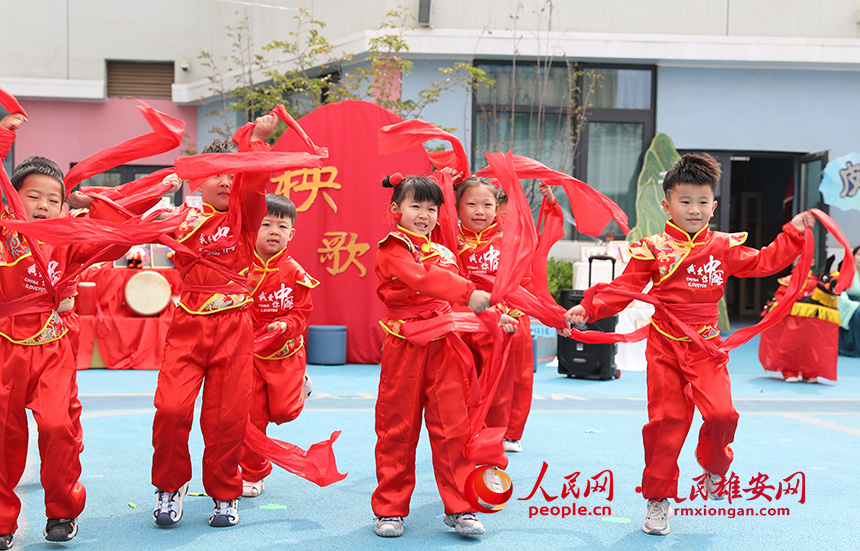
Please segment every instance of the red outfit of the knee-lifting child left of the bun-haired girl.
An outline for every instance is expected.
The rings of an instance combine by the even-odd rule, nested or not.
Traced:
[[[254,328],[259,334],[273,322],[287,325],[283,334],[254,354],[251,423],[263,433],[269,423],[292,421],[304,407],[307,359],[302,335],[313,311],[311,289],[317,285],[287,249],[268,261],[254,254],[248,272]],[[242,478],[250,482],[262,480],[272,471],[269,460],[247,444],[242,449],[241,468]]]

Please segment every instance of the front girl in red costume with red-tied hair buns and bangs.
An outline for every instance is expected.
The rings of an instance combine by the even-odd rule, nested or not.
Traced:
[[[452,303],[485,310],[490,295],[458,275],[454,253],[430,241],[443,202],[438,184],[394,175],[383,186],[394,187],[389,212],[399,224],[379,242],[376,256],[376,293],[388,314],[380,322],[386,335],[376,400],[374,531],[383,537],[403,534],[403,517],[409,514],[415,487],[415,447],[423,411],[445,524],[462,534],[479,535],[484,527],[468,512],[471,506],[463,494],[466,477],[475,467],[463,455],[470,437],[464,370],[456,350],[463,343],[448,332],[418,347],[402,331],[410,322],[449,315]]]

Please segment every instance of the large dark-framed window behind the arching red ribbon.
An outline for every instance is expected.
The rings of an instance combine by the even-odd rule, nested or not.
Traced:
[[[495,85],[480,87],[475,96],[475,166],[484,164],[478,156],[485,151],[512,149],[588,182],[624,209],[632,227],[642,156],[654,136],[654,69],[582,63],[477,65]],[[536,208],[541,199],[537,185],[524,186]],[[614,222],[605,232],[620,236]],[[577,237],[575,228],[568,228],[568,237]]]

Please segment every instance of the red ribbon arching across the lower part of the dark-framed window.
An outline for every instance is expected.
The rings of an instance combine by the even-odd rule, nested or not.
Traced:
[[[542,183],[564,188],[570,199],[570,210],[576,220],[576,229],[586,235],[600,235],[610,220],[615,220],[621,231],[628,233],[627,215],[621,207],[604,194],[585,182],[558,172],[547,166],[519,155],[513,156],[514,170],[523,179],[538,179]],[[491,174],[489,168],[477,173],[478,176]]]

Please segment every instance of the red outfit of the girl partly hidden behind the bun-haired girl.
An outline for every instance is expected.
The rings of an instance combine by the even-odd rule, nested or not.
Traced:
[[[458,255],[463,273],[467,275],[496,275],[502,252],[502,234],[498,224],[482,232],[460,226],[462,246]],[[531,322],[523,312],[499,305],[500,310],[517,319],[517,330],[511,336],[511,350],[505,362],[499,386],[492,398],[485,425],[505,427],[505,438],[519,440],[531,409],[534,368],[532,360]],[[494,336],[489,333],[463,333],[463,341],[475,355],[480,373],[492,361]],[[516,408],[514,407],[516,406]]]

